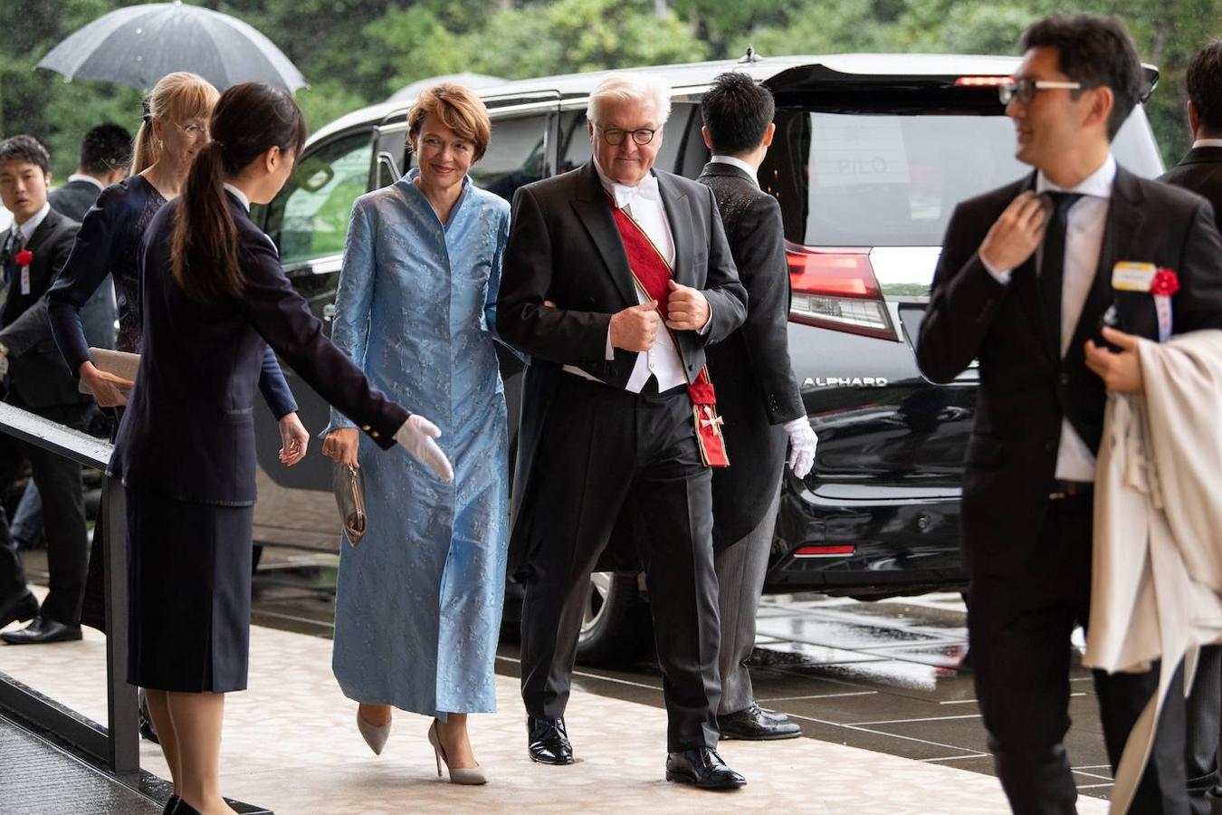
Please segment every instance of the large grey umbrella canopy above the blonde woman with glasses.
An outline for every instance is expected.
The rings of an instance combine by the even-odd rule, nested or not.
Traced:
[[[174,71],[193,71],[218,89],[266,82],[288,92],[306,78],[275,43],[219,11],[152,2],[111,11],[71,34],[34,67],[68,79],[147,89]]]

